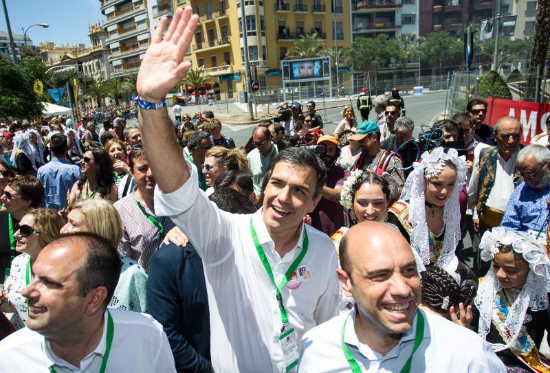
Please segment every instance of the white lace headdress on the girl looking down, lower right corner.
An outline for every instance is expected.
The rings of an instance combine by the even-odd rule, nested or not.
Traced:
[[[522,231],[505,231],[503,227],[496,227],[492,231],[486,231],[479,243],[481,259],[488,262],[500,251],[501,245],[510,245],[516,253],[520,253],[523,259],[529,264],[527,280],[520,293],[511,304],[505,325],[509,328],[510,341],[492,343],[494,351],[501,351],[509,348],[520,332],[527,308],[533,311],[545,310],[548,308],[548,293],[550,292],[550,259],[540,243]],[[474,304],[479,310],[478,335],[485,339],[491,328],[494,298],[502,289],[494,272],[493,264],[479,283]]]

